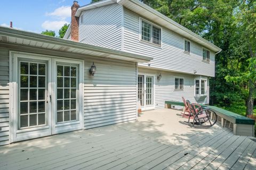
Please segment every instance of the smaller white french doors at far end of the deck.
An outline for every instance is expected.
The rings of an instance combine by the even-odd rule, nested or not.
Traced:
[[[138,99],[140,100],[142,111],[154,109],[154,76],[138,75]]]

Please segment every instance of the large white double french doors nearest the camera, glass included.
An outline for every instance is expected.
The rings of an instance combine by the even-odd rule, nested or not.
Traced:
[[[12,142],[82,129],[81,61],[14,53]]]

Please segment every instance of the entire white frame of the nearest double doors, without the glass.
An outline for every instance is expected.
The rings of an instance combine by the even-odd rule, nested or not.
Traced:
[[[17,81],[18,81],[18,57],[20,58],[33,58],[35,60],[44,60],[44,61],[48,61],[48,93],[47,93],[47,101],[50,101],[50,95],[52,95],[53,97],[55,95],[53,95],[54,92],[54,81],[52,81],[52,74],[54,73],[54,69],[55,68],[54,65],[52,65],[54,62],[56,61],[61,61],[61,62],[67,62],[67,63],[79,63],[79,79],[78,79],[78,88],[79,88],[79,93],[78,93],[78,98],[79,98],[79,129],[84,129],[83,124],[84,124],[84,119],[83,119],[83,111],[84,111],[84,105],[83,105],[83,101],[84,101],[84,60],[79,60],[79,59],[75,59],[75,58],[63,58],[63,57],[58,57],[58,56],[49,56],[49,55],[41,55],[41,54],[34,54],[34,53],[24,53],[24,52],[15,52],[15,51],[11,51],[9,52],[9,71],[10,71],[10,79],[9,79],[9,90],[10,90],[10,105],[9,105],[9,112],[10,112],[10,116],[9,116],[9,127],[10,127],[10,135],[9,135],[9,142],[15,142],[15,141],[21,141],[21,140],[26,140],[26,139],[33,139],[33,138],[39,138],[39,137],[43,137],[46,135],[51,135],[53,134],[53,115],[55,116],[55,113],[53,112],[53,108],[51,106],[54,106],[55,101],[52,98],[52,103],[50,103],[49,105],[47,105],[47,112],[48,112],[48,125],[42,126],[42,127],[36,127],[33,130],[44,130],[44,129],[50,129],[50,131],[47,131],[45,133],[40,133],[40,134],[31,134],[28,137],[18,137],[17,138],[17,132],[18,133],[26,133],[27,131],[30,131],[29,129],[24,129],[24,130],[18,130],[18,118],[17,118],[17,108],[18,108],[18,85],[17,85]],[[55,77],[54,77],[55,78]],[[54,101],[54,103],[53,103]],[[55,105],[56,106],[56,105]],[[70,123],[71,125],[72,123]],[[66,130],[67,131],[67,130]],[[61,132],[66,132],[66,131],[58,131],[58,133]],[[70,130],[71,131],[71,130]]]

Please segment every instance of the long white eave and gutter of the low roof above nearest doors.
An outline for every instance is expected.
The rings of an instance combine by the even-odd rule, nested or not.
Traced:
[[[82,55],[84,57],[109,58],[130,62],[150,62],[152,57],[142,56],[119,50],[78,43],[62,38],[50,37],[38,33],[21,31],[0,26],[0,47],[18,45]]]

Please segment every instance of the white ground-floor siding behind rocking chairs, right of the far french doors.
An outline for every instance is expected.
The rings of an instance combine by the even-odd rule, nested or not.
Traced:
[[[139,67],[140,73],[153,74],[155,78],[159,75],[159,70],[145,69]],[[164,108],[166,100],[182,101],[182,96],[185,99],[190,100],[192,103],[208,104],[209,94],[195,98],[194,96],[194,75],[174,73],[174,72],[163,72],[161,71],[162,78],[160,81],[155,80],[155,108]],[[174,90],[175,78],[182,77],[184,79],[183,90]],[[209,85],[207,86],[207,89]],[[176,106],[175,108],[182,108]]]

